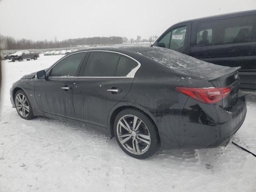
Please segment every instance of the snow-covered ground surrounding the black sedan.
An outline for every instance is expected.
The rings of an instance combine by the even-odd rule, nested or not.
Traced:
[[[12,82],[62,56],[2,62],[0,192],[255,192],[256,158],[233,144],[203,150],[158,151],[146,160],[126,155],[94,131],[47,118],[23,120],[10,104]],[[232,140],[256,153],[256,93]]]

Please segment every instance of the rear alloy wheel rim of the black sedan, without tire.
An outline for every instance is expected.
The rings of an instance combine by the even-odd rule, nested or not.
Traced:
[[[137,116],[122,116],[117,123],[116,132],[120,144],[130,153],[144,154],[151,144],[151,136],[146,124]]]

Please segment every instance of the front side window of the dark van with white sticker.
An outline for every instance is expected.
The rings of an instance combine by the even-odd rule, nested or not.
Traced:
[[[178,50],[184,46],[186,37],[186,26],[176,28],[168,32],[159,42],[160,47]]]

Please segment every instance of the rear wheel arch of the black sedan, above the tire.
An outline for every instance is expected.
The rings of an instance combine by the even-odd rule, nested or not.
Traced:
[[[123,105],[118,105],[115,108],[112,108],[112,110],[110,111],[110,113],[108,115],[108,129],[110,130],[111,138],[114,137],[114,120],[116,118],[116,115],[120,111],[122,111],[124,109],[128,109],[128,108],[139,110],[139,111],[143,112],[144,114],[146,114],[152,120],[152,122],[154,122],[154,124],[156,125],[156,128],[158,130],[158,123],[156,122],[156,119],[148,110],[146,110],[146,108],[144,108],[142,106],[136,106],[134,104],[125,104],[125,105],[123,104]],[[159,130],[158,130],[158,134],[159,134]],[[160,138],[160,140],[161,140],[161,138]]]

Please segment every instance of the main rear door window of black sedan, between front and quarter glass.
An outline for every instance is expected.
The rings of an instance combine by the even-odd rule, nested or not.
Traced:
[[[111,52],[91,52],[83,76],[112,77],[120,55]]]

